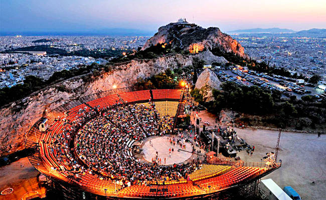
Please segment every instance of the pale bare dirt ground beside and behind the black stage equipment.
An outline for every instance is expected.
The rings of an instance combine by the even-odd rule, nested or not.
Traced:
[[[208,121],[209,128],[214,128],[215,115],[205,110],[198,115],[202,118],[201,127],[204,121]],[[193,115],[191,120],[194,122]],[[235,129],[238,136],[255,145],[252,156],[246,151],[237,154],[242,160],[260,162],[266,152],[275,151],[278,131]],[[326,135],[317,138],[317,134],[281,132],[277,159],[282,160],[282,166],[262,179],[272,178],[281,188],[290,185],[304,200],[326,199]]]

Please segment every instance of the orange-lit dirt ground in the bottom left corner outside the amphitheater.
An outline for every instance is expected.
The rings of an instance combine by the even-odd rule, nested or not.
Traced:
[[[0,195],[0,200],[25,199],[29,194],[45,193],[46,189],[38,182],[40,172],[29,162],[28,158],[21,158],[7,166],[0,167],[0,191],[7,187],[14,189],[13,193]],[[26,194],[30,192],[29,194]],[[22,198],[25,195],[24,198]]]

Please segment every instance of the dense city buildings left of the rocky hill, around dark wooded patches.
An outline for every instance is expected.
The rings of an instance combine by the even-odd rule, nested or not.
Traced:
[[[62,56],[47,51],[15,50],[36,45],[62,49],[67,53],[85,50],[101,54],[110,50],[132,50],[141,46],[144,36],[1,36],[0,87],[11,87],[23,82],[27,75],[48,79],[53,72],[78,68],[92,63],[105,64],[110,57]],[[15,51],[15,52],[6,52]]]

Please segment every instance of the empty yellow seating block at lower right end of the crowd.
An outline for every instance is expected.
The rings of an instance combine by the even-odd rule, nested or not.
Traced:
[[[204,164],[202,167],[191,174],[189,174],[189,178],[191,180],[200,180],[212,176],[216,176],[227,171],[231,166],[228,165],[216,165],[216,164]]]

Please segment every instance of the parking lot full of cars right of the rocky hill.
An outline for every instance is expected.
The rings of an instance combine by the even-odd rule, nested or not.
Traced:
[[[257,73],[252,70],[243,72],[239,69],[217,69],[215,70],[215,73],[222,81],[233,81],[240,85],[247,86],[257,85],[270,90],[278,90],[286,96],[296,95],[297,98],[301,98],[303,95],[313,95],[316,99],[323,98],[323,95],[320,95],[321,90],[317,90],[312,86],[296,84],[289,80]]]

